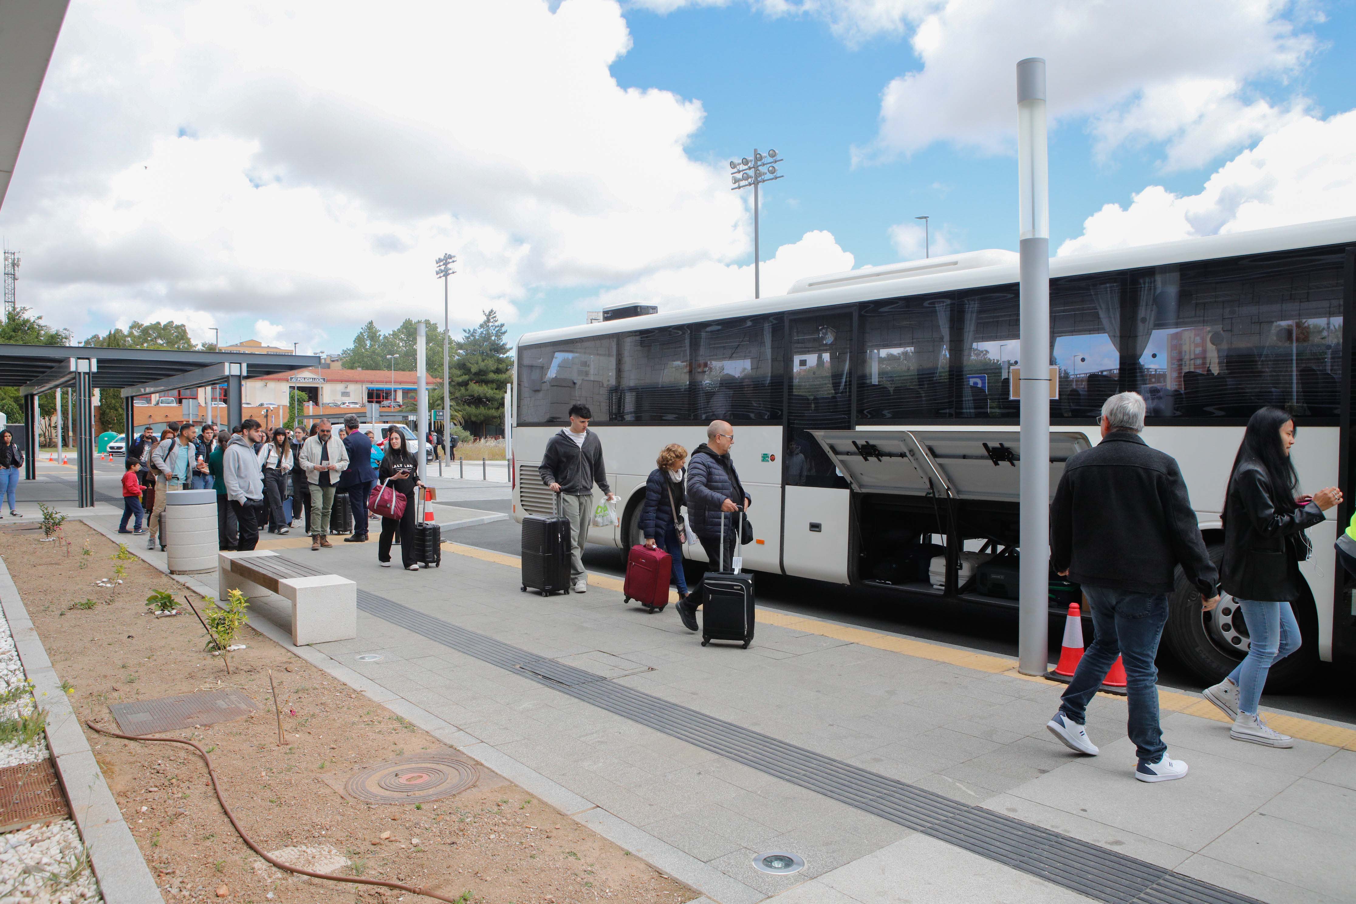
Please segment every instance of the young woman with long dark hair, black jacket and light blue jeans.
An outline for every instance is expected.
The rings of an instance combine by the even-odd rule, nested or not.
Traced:
[[[1294,747],[1295,741],[1258,718],[1272,664],[1300,648],[1292,604],[1303,594],[1299,562],[1309,558],[1306,527],[1342,500],[1336,487],[1298,496],[1299,474],[1290,457],[1295,422],[1280,408],[1262,408],[1248,422],[1224,489],[1224,564],[1220,585],[1243,610],[1248,656],[1205,699],[1234,720],[1234,740]],[[1214,606],[1207,606],[1207,610]]]

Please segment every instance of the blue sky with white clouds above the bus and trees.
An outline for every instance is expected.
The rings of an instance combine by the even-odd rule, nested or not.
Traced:
[[[339,351],[1016,248],[1013,65],[1048,60],[1060,253],[1356,214],[1356,8],[1322,0],[72,0],[0,210],[77,339]]]

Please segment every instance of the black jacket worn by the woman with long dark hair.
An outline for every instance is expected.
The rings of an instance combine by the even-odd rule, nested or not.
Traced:
[[[1303,594],[1299,564],[1288,538],[1323,520],[1314,503],[1281,511],[1267,472],[1243,462],[1234,472],[1224,500],[1224,565],[1220,584],[1242,599],[1298,602]]]

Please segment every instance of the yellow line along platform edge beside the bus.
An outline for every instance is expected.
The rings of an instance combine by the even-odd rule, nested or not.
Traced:
[[[289,541],[273,541],[275,543],[286,543]],[[306,541],[309,543],[309,541]],[[487,562],[495,562],[498,565],[509,565],[513,568],[521,568],[522,560],[518,556],[509,556],[507,553],[496,553],[488,549],[479,549],[476,546],[462,546],[461,543],[443,542],[443,549],[458,556],[468,556],[471,558],[479,558]],[[610,577],[606,575],[590,575],[589,584],[593,587],[601,587],[603,590],[614,590],[621,592],[624,581],[620,577]],[[677,600],[677,594],[670,594],[670,602]],[[834,625],[831,622],[823,622],[815,618],[804,615],[789,615],[786,613],[770,613],[765,610],[758,610],[758,622],[763,625],[773,625],[777,628],[786,628],[791,630],[804,632],[807,634],[818,634],[819,637],[833,637],[835,640],[848,641],[852,644],[860,644],[862,646],[872,646],[876,649],[885,649],[894,653],[902,653],[904,656],[914,656],[917,659],[928,659],[936,663],[946,663],[951,665],[959,665],[961,668],[971,668],[980,672],[987,672],[991,675],[1010,675],[1013,678],[1020,678],[1024,680],[1048,683],[1047,679],[1039,675],[1022,675],[1017,671],[1013,660],[1002,656],[991,656],[989,653],[976,653],[974,651],[955,649],[952,646],[941,646],[938,644],[930,644],[922,640],[914,640],[911,637],[899,637],[898,634],[885,634],[883,632],[875,632],[866,628],[852,628],[848,625]],[[1115,694],[1102,694],[1104,697],[1116,697]],[[1185,716],[1195,716],[1197,718],[1208,718],[1216,722],[1227,722],[1229,720],[1220,713],[1214,703],[1205,701],[1201,697],[1193,694],[1182,694],[1181,691],[1172,690],[1158,690],[1158,706],[1173,713],[1182,713]],[[1341,725],[1328,725],[1325,722],[1314,722],[1307,718],[1300,718],[1298,716],[1283,716],[1279,713],[1267,713],[1267,721],[1279,732],[1284,732],[1291,737],[1296,737],[1304,741],[1313,741],[1315,744],[1325,744],[1328,747],[1340,747],[1349,751],[1356,751],[1356,729],[1344,728]]]

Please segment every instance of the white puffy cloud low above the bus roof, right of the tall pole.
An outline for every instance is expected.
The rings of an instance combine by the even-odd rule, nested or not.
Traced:
[[[1356,110],[1300,117],[1223,167],[1195,195],[1149,186],[1060,244],[1070,255],[1356,215]]]

